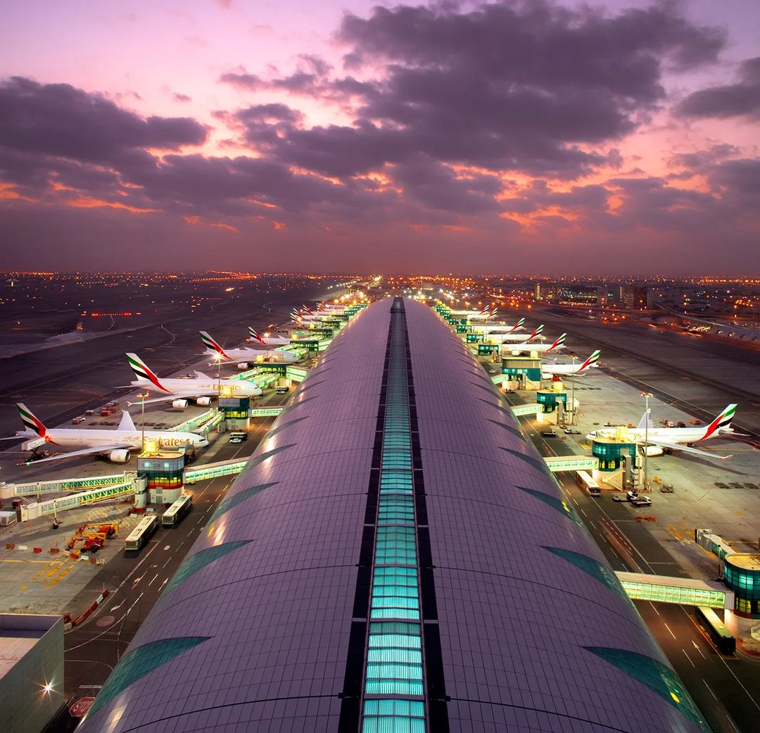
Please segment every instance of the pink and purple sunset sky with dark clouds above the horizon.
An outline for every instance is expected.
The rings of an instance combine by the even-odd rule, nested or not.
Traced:
[[[760,3],[26,0],[0,268],[760,275]]]

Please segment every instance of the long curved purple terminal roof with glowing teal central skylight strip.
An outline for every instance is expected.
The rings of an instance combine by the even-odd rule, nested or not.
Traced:
[[[274,422],[83,733],[708,731],[491,379],[412,300]]]

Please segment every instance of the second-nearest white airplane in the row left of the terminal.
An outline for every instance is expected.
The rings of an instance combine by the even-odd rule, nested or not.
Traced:
[[[195,372],[195,377],[159,379],[137,354],[127,354],[127,363],[136,377],[129,386],[163,393],[162,397],[145,400],[146,405],[173,400],[172,407],[182,410],[188,406],[190,399],[205,407],[211,405],[211,398],[220,394],[223,397],[258,397],[262,394],[261,387],[245,379],[214,379],[202,372]],[[142,404],[142,401],[131,404]]]

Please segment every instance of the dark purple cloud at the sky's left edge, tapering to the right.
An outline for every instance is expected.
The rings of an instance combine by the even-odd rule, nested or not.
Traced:
[[[0,84],[0,144],[11,150],[109,162],[135,148],[176,150],[206,136],[194,119],[143,119],[70,84],[19,77]]]

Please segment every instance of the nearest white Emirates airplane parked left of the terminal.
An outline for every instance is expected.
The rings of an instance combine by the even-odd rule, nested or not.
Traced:
[[[82,430],[81,428],[57,427],[47,428],[38,420],[33,412],[23,403],[18,403],[18,412],[24,430],[16,433],[16,437],[29,437],[32,440],[24,444],[32,451],[32,455],[43,446],[46,449],[62,450],[58,455],[36,459],[34,463],[59,461],[74,458],[78,455],[107,455],[113,463],[126,463],[131,452],[142,446],[142,433],[135,427],[131,415],[122,412],[122,420],[116,430]],[[35,439],[36,438],[36,439]],[[180,433],[177,430],[145,430],[146,441],[155,441],[159,446],[170,450],[197,450],[205,448],[208,440],[195,433]],[[79,450],[80,446],[84,446]],[[27,461],[27,465],[31,461]]]

